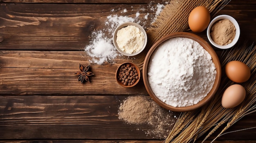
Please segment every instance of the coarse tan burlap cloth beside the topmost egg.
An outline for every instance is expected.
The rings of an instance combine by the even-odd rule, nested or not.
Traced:
[[[170,3],[164,7],[152,26],[148,28],[147,49],[153,46],[153,44],[164,35],[188,30],[189,13],[195,7],[206,7],[210,11],[211,17],[213,17],[213,15],[229,1],[230,0],[171,0]]]

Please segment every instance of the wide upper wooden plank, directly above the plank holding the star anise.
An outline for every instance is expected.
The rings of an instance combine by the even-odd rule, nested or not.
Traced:
[[[131,8],[132,6],[132,8]],[[145,28],[149,27],[155,13],[150,7],[156,4],[0,4],[0,35],[2,50],[84,50],[92,40],[92,31],[107,29],[106,17],[140,13]],[[144,9],[141,9],[144,8]],[[112,11],[115,9],[115,11]],[[127,10],[124,13],[124,9]],[[136,11],[134,11],[136,9]],[[145,15],[148,20],[144,19]],[[227,5],[216,15],[233,16],[241,27],[240,41],[256,39],[255,4]],[[216,16],[215,15],[215,16]],[[105,33],[110,34],[111,33]],[[207,40],[205,33],[198,33]]]

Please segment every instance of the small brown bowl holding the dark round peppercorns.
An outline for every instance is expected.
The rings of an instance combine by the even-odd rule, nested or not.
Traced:
[[[121,81],[120,81],[119,78],[118,78],[118,76],[119,76],[119,69],[121,68],[121,66],[126,65],[126,64],[130,64],[130,66],[135,66],[135,69],[137,70],[137,73],[138,73],[138,77],[139,77],[139,79],[140,79],[139,67],[138,67],[136,64],[132,63],[132,62],[124,62],[123,64],[121,64],[121,65],[117,68],[115,78],[116,78],[116,80],[117,80],[117,83],[118,83],[120,86],[123,86],[123,87],[126,87],[126,88],[130,88],[130,87],[133,87],[133,86],[135,86],[136,84],[138,84],[139,79],[137,79],[137,80],[135,81],[135,83],[132,84],[132,85],[130,85],[130,86],[128,86],[128,85],[125,86],[123,83],[121,83]]]

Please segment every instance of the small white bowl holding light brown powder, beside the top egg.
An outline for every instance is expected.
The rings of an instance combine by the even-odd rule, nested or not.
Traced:
[[[230,21],[234,24],[234,26],[236,27],[236,35],[235,35],[235,37],[234,37],[234,39],[233,39],[233,41],[232,41],[231,43],[229,43],[229,44],[227,44],[227,45],[221,46],[221,45],[216,44],[215,42],[213,42],[213,40],[211,39],[210,32],[211,32],[211,26],[212,26],[215,22],[217,22],[217,21],[219,21],[219,20],[223,20],[223,19],[228,19],[228,20],[230,20]],[[238,22],[237,22],[233,17],[231,17],[231,16],[229,16],[229,15],[219,15],[219,16],[217,16],[216,18],[214,18],[214,19],[210,22],[210,24],[209,24],[209,26],[208,26],[208,28],[207,28],[207,38],[208,38],[209,42],[211,42],[211,44],[212,44],[213,46],[217,47],[217,48],[221,48],[221,49],[231,48],[232,46],[234,46],[234,45],[236,44],[236,42],[237,42],[238,39],[239,39],[239,36],[240,36],[240,28],[239,28]]]

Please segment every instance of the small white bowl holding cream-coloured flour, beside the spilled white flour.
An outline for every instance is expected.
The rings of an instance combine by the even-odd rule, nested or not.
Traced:
[[[126,27],[126,26],[128,26],[128,25],[132,25],[132,26],[138,27],[139,30],[142,31],[142,33],[144,34],[144,37],[145,37],[144,45],[142,46],[142,48],[141,48],[139,51],[137,51],[137,52],[135,52],[135,53],[132,53],[132,54],[126,53],[126,52],[122,51],[122,50],[118,47],[118,44],[117,44],[117,42],[116,42],[116,41],[117,41],[117,31],[119,31],[121,28]],[[147,33],[146,33],[145,29],[144,29],[141,25],[139,25],[139,24],[137,24],[137,23],[135,23],[135,22],[124,22],[124,23],[122,23],[122,24],[119,24],[119,25],[117,26],[117,28],[115,29],[114,33],[113,33],[113,44],[114,44],[115,48],[117,49],[117,51],[119,51],[119,53],[121,53],[121,54],[123,54],[123,55],[126,55],[126,56],[135,56],[135,55],[138,55],[139,53],[141,53],[141,52],[144,50],[144,48],[146,47],[147,40],[148,40],[148,38],[147,38]]]

